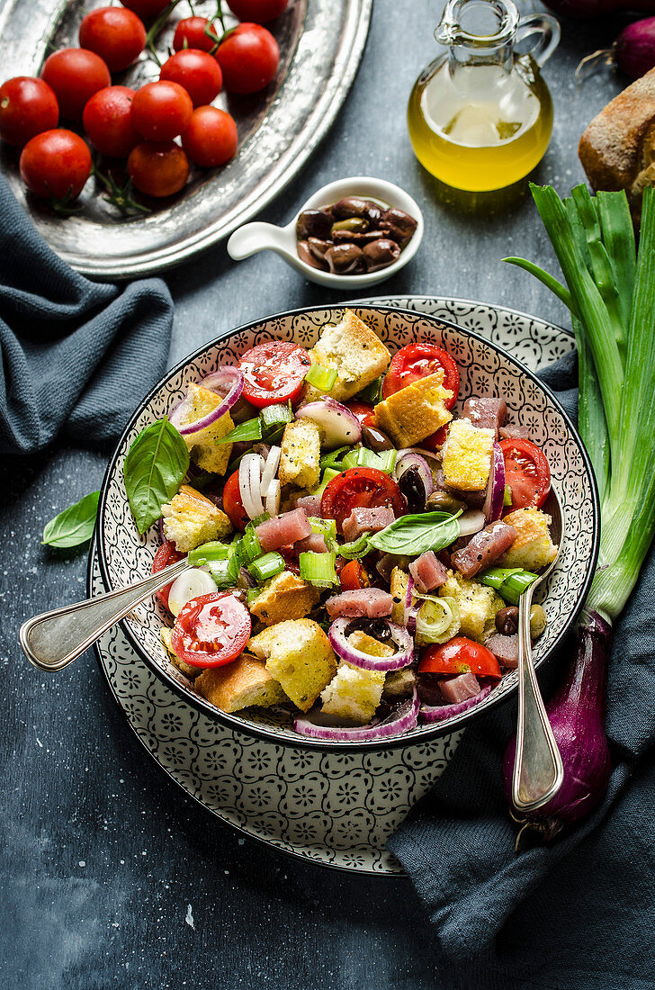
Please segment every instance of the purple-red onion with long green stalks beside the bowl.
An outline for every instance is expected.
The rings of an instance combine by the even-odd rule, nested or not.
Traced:
[[[607,789],[611,624],[655,534],[655,190],[644,192],[638,251],[623,191],[591,196],[581,185],[564,200],[551,186],[532,185],[531,191],[564,281],[524,258],[505,260],[539,279],[571,313],[578,427],[601,504],[599,561],[576,628],[577,650],[546,706],[565,777],[560,792],[528,824],[549,837],[589,814]],[[514,754],[512,741],[505,761],[508,794]]]

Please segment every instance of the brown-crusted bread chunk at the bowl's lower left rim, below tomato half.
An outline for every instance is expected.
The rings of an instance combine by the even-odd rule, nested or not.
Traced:
[[[257,706],[270,708],[285,701],[284,691],[266,670],[263,660],[241,653],[232,663],[203,670],[196,689],[223,712]]]

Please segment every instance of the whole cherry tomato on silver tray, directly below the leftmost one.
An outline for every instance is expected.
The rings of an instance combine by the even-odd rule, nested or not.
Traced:
[[[35,196],[68,202],[79,196],[91,174],[91,152],[72,131],[44,131],[23,148],[20,169]]]

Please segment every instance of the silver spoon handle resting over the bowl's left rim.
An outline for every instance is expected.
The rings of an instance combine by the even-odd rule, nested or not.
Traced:
[[[187,567],[185,557],[127,588],[108,591],[29,619],[23,623],[19,634],[23,652],[40,670],[61,670],[144,598],[174,580]]]

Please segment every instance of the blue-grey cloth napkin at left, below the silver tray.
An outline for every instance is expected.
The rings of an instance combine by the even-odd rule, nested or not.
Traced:
[[[0,176],[0,452],[59,432],[83,446],[116,439],[165,370],[172,323],[164,282],[119,288],[73,271]]]

